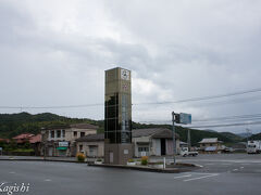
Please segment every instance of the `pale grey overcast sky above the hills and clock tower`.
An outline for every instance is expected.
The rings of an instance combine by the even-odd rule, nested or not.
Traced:
[[[0,106],[102,104],[104,70],[115,66],[133,73],[133,103],[260,88],[260,0],[1,0]],[[260,100],[134,105],[133,119],[261,114]],[[103,118],[103,106],[22,110]]]

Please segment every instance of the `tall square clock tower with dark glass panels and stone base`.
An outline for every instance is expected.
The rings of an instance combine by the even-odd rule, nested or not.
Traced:
[[[130,70],[105,70],[104,162],[126,165],[133,158]]]

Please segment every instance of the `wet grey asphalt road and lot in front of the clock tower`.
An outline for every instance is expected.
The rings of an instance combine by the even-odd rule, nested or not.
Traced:
[[[178,160],[203,167],[192,172],[154,173],[84,164],[0,161],[0,184],[29,183],[26,194],[34,195],[238,195],[261,192],[261,155],[200,155]]]

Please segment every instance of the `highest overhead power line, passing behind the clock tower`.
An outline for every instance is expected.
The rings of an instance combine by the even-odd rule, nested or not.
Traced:
[[[156,104],[175,104],[175,103],[186,103],[186,102],[199,102],[199,101],[236,96],[236,95],[243,95],[243,94],[249,94],[249,93],[257,93],[257,92],[261,92],[261,88],[238,91],[238,92],[234,92],[234,93],[211,95],[211,96],[184,99],[184,100],[178,100],[178,101],[134,103],[133,105],[156,105]],[[103,106],[103,105],[104,104],[96,103],[96,104],[80,104],[80,105],[59,105],[59,106],[0,106],[0,108],[5,108],[5,109],[52,109],[52,108],[80,108],[80,107]]]

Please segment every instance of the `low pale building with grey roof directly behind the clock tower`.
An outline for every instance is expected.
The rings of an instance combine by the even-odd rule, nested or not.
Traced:
[[[133,129],[134,156],[173,155],[172,131],[169,129]],[[76,140],[77,152],[88,157],[104,155],[104,133],[89,134]],[[176,152],[179,153],[179,135],[176,134]]]

